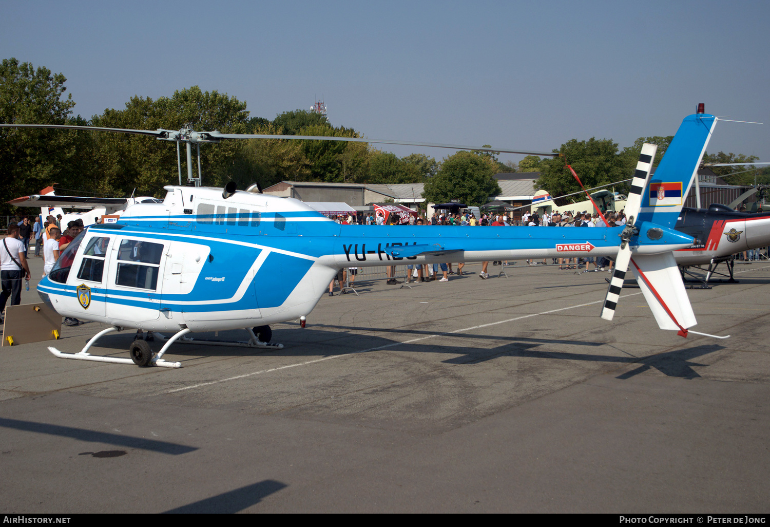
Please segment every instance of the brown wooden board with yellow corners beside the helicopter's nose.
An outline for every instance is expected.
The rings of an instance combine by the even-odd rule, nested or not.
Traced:
[[[52,341],[60,334],[62,315],[45,302],[5,307],[2,346]]]

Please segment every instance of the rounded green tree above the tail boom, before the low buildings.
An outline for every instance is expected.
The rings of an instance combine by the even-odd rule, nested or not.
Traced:
[[[497,166],[490,156],[462,150],[444,158],[436,176],[425,183],[423,197],[433,203],[457,199],[469,206],[484,205],[500,193],[492,177],[495,173]]]

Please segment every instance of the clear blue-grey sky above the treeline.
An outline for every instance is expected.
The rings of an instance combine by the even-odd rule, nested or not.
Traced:
[[[2,0],[0,58],[62,72],[90,118],[198,85],[273,119],[323,97],[370,138],[550,151],[671,135],[770,161],[770,2]],[[447,151],[383,147],[399,156]],[[501,156],[517,160],[521,156]]]

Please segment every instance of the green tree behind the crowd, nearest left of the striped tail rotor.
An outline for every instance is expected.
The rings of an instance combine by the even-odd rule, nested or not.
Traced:
[[[588,141],[570,139],[561,145],[554,153],[560,157],[544,159],[540,163],[540,179],[536,186],[547,190],[551,196],[561,196],[581,190],[580,185],[567,169],[570,164],[588,189],[594,186],[612,183],[630,177],[624,159],[618,156],[618,143],[612,139],[595,139]],[[568,198],[555,200],[558,206],[571,203]]]

